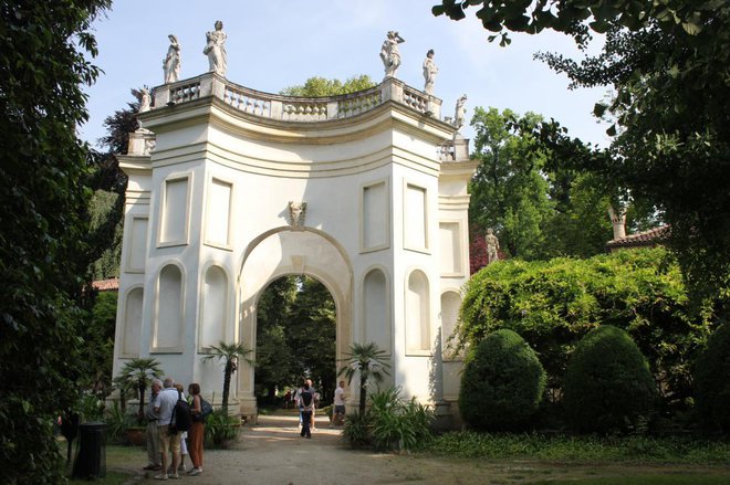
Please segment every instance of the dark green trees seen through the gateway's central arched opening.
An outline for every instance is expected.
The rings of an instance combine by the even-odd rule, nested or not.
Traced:
[[[336,388],[337,315],[319,280],[285,275],[273,280],[257,303],[254,394],[259,412],[294,413],[292,397],[303,379],[320,393],[320,408]]]

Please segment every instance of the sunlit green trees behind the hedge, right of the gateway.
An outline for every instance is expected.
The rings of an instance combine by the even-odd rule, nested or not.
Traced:
[[[481,243],[488,228],[507,257],[523,260],[590,257],[603,253],[612,238],[606,183],[565,167],[563,154],[542,141],[542,123],[534,113],[474,108],[472,156],[480,164],[469,184],[469,225],[478,267],[486,264]],[[653,208],[629,209],[634,228],[651,221]]]

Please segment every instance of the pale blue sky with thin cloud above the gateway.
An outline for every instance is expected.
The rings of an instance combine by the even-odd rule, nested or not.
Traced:
[[[167,35],[177,35],[181,48],[180,78],[208,71],[202,54],[205,34],[216,20],[228,34],[227,78],[268,93],[301,85],[312,76],[346,78],[367,74],[379,83],[384,76],[379,51],[386,33],[398,31],[401,66],[397,77],[424,88],[423,61],[436,51],[439,68],[435,95],[442,99],[441,116],[453,116],[456,101],[468,96],[467,119],[473,108],[510,108],[554,118],[571,136],[607,145],[605,125],[591,114],[606,88],[569,89],[566,76],[534,61],[538,51],[559,52],[575,59],[581,52],[562,34],[512,34],[512,44],[500,48],[488,41],[468,11],[453,21],[434,17],[436,0],[117,0],[94,22],[100,55],[93,63],[103,74],[88,95],[90,120],[80,128],[82,139],[97,146],[105,135],[104,118],[134,101],[129,89],[163,84]],[[599,41],[597,41],[599,42]],[[597,43],[596,42],[596,43]],[[599,45],[592,45],[593,52]],[[462,128],[473,138],[471,127]]]

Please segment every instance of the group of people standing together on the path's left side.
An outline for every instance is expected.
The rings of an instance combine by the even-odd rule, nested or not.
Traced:
[[[206,434],[202,418],[202,398],[200,384],[188,386],[188,398],[185,397],[182,384],[175,384],[171,378],[164,381],[154,379],[152,396],[145,411],[147,420],[147,460],[144,470],[159,471],[155,479],[179,478],[179,472],[185,472],[185,455],[190,456],[192,468],[188,475],[202,473],[202,441]],[[175,424],[175,408],[178,400],[187,400],[192,423],[187,432],[177,432]],[[171,461],[170,461],[171,455]]]

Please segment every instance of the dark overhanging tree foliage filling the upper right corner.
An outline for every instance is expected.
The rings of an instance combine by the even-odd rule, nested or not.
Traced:
[[[553,54],[539,57],[575,86],[615,89],[613,101],[597,103],[595,110],[616,120],[608,130],[611,147],[586,149],[555,123],[546,123],[543,135],[564,150],[566,164],[655,204],[671,224],[670,244],[691,287],[727,301],[730,3],[444,0],[432,11],[462,19],[473,7],[503,45],[509,32],[552,29],[582,48],[592,32],[606,34],[603,52],[580,63]]]

